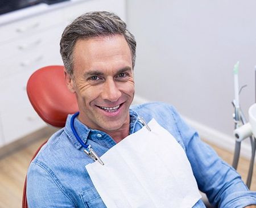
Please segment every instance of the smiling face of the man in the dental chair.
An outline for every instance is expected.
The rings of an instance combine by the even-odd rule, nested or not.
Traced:
[[[129,127],[134,97],[131,51],[121,35],[78,40],[73,51],[73,79],[79,120],[92,129],[117,131]]]

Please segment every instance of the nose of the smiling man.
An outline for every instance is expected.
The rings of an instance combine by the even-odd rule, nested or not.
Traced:
[[[118,89],[117,84],[113,79],[106,79],[104,86],[102,86],[101,97],[108,101],[117,101],[121,97],[122,92]]]

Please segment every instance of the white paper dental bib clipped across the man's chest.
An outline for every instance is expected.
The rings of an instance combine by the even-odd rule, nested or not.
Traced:
[[[154,119],[86,165],[108,208],[193,207],[201,198],[176,139]]]

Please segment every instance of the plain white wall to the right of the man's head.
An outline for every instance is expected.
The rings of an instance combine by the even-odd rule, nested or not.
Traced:
[[[128,0],[137,39],[137,95],[175,105],[189,120],[233,137],[233,66],[254,103],[256,1]],[[232,147],[233,148],[233,147]]]

